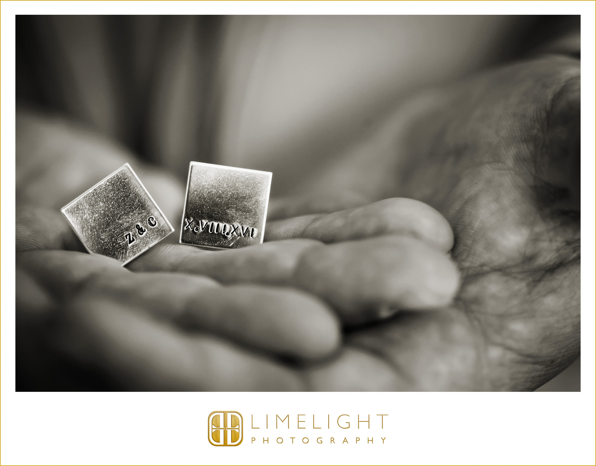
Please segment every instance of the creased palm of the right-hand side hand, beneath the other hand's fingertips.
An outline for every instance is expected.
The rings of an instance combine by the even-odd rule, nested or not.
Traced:
[[[579,60],[546,55],[425,93],[286,199],[301,214],[333,193],[427,202],[462,271],[454,305],[346,335],[313,390],[534,390],[575,359],[579,76]]]

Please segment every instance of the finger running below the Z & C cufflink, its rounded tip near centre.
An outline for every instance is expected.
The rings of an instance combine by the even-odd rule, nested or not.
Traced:
[[[105,268],[94,256],[69,252],[30,252],[20,256],[20,264],[62,301],[78,296],[110,296],[189,329],[299,358],[326,356],[341,341],[333,311],[316,298],[293,289],[260,285],[223,287],[207,277],[132,273],[122,267]],[[111,264],[113,260],[109,261]]]

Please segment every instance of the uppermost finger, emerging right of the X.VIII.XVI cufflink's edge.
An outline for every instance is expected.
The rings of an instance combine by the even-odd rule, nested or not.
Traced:
[[[269,221],[265,240],[310,238],[333,243],[385,234],[412,236],[443,252],[453,246],[453,232],[445,217],[423,202],[403,197],[332,214]]]

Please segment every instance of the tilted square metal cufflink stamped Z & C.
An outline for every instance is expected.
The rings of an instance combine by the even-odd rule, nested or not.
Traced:
[[[128,264],[174,231],[128,163],[61,209],[92,254]]]

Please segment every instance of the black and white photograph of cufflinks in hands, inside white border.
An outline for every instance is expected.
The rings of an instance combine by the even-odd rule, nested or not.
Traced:
[[[579,391],[580,37],[17,15],[15,390]]]

